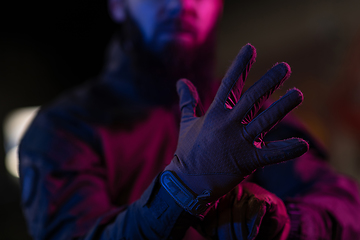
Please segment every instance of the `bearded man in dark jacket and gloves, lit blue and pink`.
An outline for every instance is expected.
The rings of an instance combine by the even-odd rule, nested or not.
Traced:
[[[294,138],[301,127],[285,124],[265,139],[302,102],[292,89],[261,109],[289,78],[286,63],[243,91],[256,57],[248,44],[216,92],[222,7],[222,0],[109,0],[119,33],[104,73],[42,107],[20,145],[22,203],[35,239],[315,239],[360,232],[355,184],[316,159],[322,152],[305,133],[300,137],[311,150],[303,155],[308,142]],[[286,205],[243,181],[293,158],[284,166],[300,177],[286,178],[286,187],[273,182],[277,170],[247,178]],[[313,166],[305,175],[297,164],[304,161]],[[333,197],[336,191],[344,197]],[[339,208],[354,218],[341,231]]]

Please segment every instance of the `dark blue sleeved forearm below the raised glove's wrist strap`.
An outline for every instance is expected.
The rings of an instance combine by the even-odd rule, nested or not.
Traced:
[[[181,221],[187,218],[190,221]],[[86,239],[181,239],[194,219],[156,178],[142,197],[106,226],[96,226]]]

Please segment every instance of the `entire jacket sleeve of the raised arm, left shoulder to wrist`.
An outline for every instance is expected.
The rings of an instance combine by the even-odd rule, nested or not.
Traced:
[[[19,148],[22,205],[34,239],[169,239],[175,230],[183,236],[190,222],[179,219],[192,217],[157,178],[133,204],[114,205],[89,126],[54,119],[40,113]]]

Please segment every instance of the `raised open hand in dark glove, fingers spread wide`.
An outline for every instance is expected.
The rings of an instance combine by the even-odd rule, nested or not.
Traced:
[[[266,132],[298,106],[303,95],[297,89],[289,90],[256,116],[291,71],[288,64],[277,64],[241,96],[255,56],[250,44],[241,49],[203,116],[197,111],[200,100],[196,88],[188,80],[177,83],[180,135],[175,157],[162,173],[161,183],[193,215],[199,216],[208,203],[257,168],[299,157],[308,150],[308,144],[298,138],[263,142]]]

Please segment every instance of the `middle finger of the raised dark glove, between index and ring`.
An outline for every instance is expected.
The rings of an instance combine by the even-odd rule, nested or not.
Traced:
[[[278,89],[291,74],[287,63],[272,67],[260,80],[252,85],[241,97],[236,106],[237,117],[241,123],[248,124],[255,117],[264,102]]]

